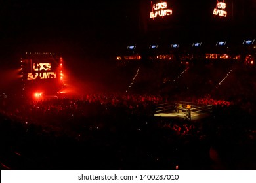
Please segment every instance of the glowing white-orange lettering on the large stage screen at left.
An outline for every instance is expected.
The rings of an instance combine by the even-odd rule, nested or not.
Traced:
[[[56,73],[54,72],[45,72],[51,71],[51,63],[33,63],[32,67],[34,73],[28,73],[28,80],[39,79],[48,79],[48,78],[56,78]]]

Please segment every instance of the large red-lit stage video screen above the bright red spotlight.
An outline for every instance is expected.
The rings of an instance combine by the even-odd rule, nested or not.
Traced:
[[[63,84],[62,58],[52,54],[26,54],[20,66],[26,92],[55,93]]]

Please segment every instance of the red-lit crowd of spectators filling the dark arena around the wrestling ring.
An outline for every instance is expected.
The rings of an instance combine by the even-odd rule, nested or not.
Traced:
[[[215,88],[230,67],[232,75]],[[179,71],[168,75],[164,64],[163,72],[146,65],[133,88],[123,93],[1,97],[1,169],[255,169],[253,95],[246,95],[245,85],[236,91],[230,82],[247,69],[238,72],[232,63],[198,68],[190,65],[178,80],[163,86],[162,78]],[[253,69],[249,71],[243,77],[253,88]],[[142,86],[151,89],[138,92]],[[154,116],[156,105],[177,101],[213,105],[213,113],[197,121]]]

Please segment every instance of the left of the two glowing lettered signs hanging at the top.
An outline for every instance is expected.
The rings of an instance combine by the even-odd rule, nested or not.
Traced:
[[[151,1],[151,8],[152,8],[152,12],[150,12],[150,18],[153,18],[153,20],[157,16],[163,17],[163,16],[169,16],[173,14],[173,10],[167,8],[166,2],[153,4]]]

